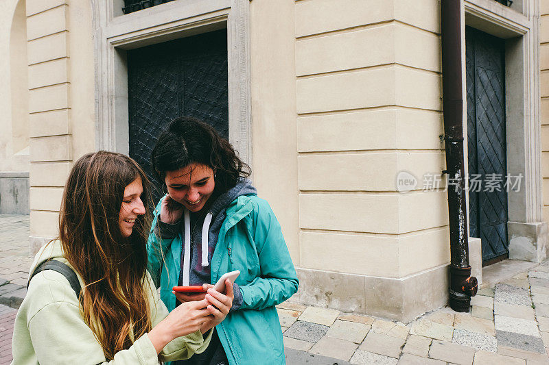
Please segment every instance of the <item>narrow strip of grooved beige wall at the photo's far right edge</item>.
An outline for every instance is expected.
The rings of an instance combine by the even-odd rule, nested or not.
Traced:
[[[539,0],[539,74],[541,104],[541,175],[543,176],[544,219],[549,221],[549,1]]]

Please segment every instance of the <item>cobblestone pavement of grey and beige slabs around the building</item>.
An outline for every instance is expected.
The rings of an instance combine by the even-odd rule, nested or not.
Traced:
[[[0,215],[0,365],[11,360],[12,307],[32,263],[28,224],[28,216]],[[277,310],[290,365],[549,364],[549,262],[479,290],[471,305],[407,325],[291,302]]]

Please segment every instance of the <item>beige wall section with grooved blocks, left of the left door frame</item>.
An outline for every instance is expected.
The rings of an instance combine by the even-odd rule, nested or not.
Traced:
[[[31,244],[58,234],[74,159],[95,149],[93,40],[88,1],[27,0]]]

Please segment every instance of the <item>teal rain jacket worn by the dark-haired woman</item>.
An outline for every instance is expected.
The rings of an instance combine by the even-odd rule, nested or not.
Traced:
[[[154,210],[152,227],[160,208],[161,203]],[[162,240],[154,229],[148,240],[148,269],[170,312],[176,307],[172,287],[178,284],[182,242],[181,234]],[[242,195],[226,207],[211,258],[211,283],[233,270],[240,270],[236,283],[244,301],[217,326],[229,364],[285,364],[274,305],[292,297],[299,281],[277,218],[256,195]]]

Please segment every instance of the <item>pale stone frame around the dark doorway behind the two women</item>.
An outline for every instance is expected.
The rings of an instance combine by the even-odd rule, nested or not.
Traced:
[[[249,0],[175,0],[122,14],[123,0],[91,0],[96,148],[128,154],[126,51],[227,29],[229,140],[252,163]]]

